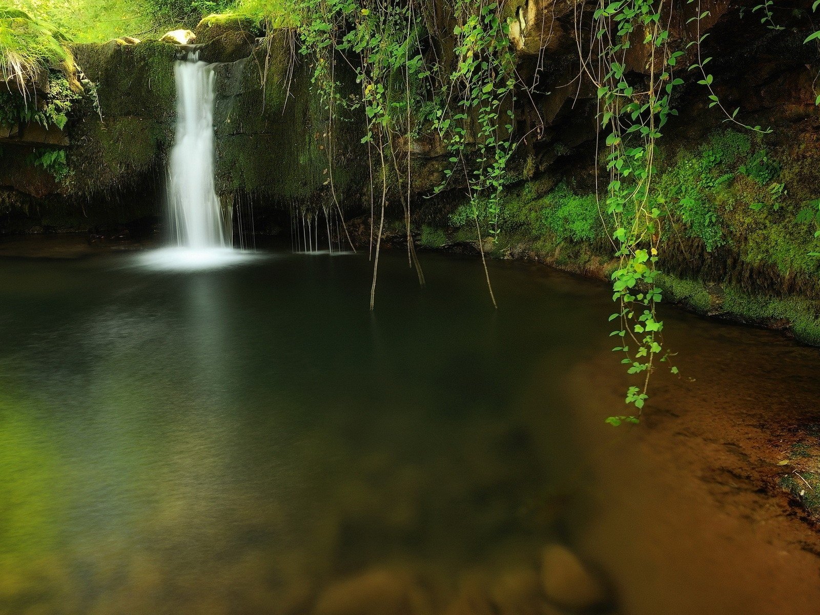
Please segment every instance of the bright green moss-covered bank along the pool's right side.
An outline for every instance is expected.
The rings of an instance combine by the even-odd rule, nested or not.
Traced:
[[[813,116],[792,122],[785,136],[726,128],[699,139],[668,136],[656,177],[665,208],[656,283],[665,301],[820,345],[820,259],[811,255],[820,252],[815,123]],[[608,281],[617,260],[594,167],[571,158],[563,173],[519,172],[503,196],[501,232],[481,240],[485,252]],[[414,221],[421,247],[477,253],[468,204],[418,203]],[[480,225],[489,229],[490,221]]]

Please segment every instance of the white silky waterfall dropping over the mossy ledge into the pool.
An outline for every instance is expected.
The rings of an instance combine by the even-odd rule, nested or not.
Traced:
[[[224,222],[213,179],[213,90],[210,64],[198,52],[174,64],[176,142],[171,151],[168,203],[171,230],[181,248],[225,248]]]

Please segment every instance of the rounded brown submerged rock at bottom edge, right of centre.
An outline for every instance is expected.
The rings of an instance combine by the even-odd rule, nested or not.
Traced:
[[[549,544],[541,555],[541,585],[547,599],[564,608],[581,610],[608,599],[604,584],[561,544]]]

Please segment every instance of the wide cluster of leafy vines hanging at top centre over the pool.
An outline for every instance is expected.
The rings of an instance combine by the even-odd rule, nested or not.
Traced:
[[[437,26],[414,2],[289,0],[288,4],[289,11],[285,2],[266,5],[263,11],[270,13],[265,20],[257,16],[256,21],[270,26],[280,23],[283,13],[288,16],[301,43],[299,51],[312,62],[312,83],[331,120],[340,107],[363,111],[366,130],[362,144],[367,145],[371,161],[373,202],[379,203],[381,212],[373,234],[372,307],[389,192],[403,207],[408,259],[415,261],[409,240],[412,163],[407,153],[415,135],[435,133],[449,152],[451,166],[444,170],[446,179],[436,192],[453,184],[466,185],[470,205],[462,213],[471,216],[479,239],[480,221],[485,221],[485,232],[499,234],[500,194],[515,146],[511,137],[516,80],[508,25],[499,2],[446,2],[452,32],[437,34],[451,37],[453,54],[446,63],[427,64],[422,50],[435,47],[430,28]],[[248,6],[240,4],[238,10],[248,10]],[[348,58],[348,66],[356,72],[362,87],[360,97],[343,98],[339,93],[339,54]],[[331,190],[332,182],[331,173]],[[421,268],[415,262],[423,284]]]

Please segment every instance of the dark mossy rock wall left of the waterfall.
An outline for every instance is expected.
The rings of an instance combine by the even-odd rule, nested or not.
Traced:
[[[0,231],[87,230],[162,213],[157,195],[173,139],[176,51],[151,41],[75,45],[78,66],[97,84],[98,105],[88,88],[72,104],[67,173],[59,180],[22,152],[0,164],[12,203]]]

